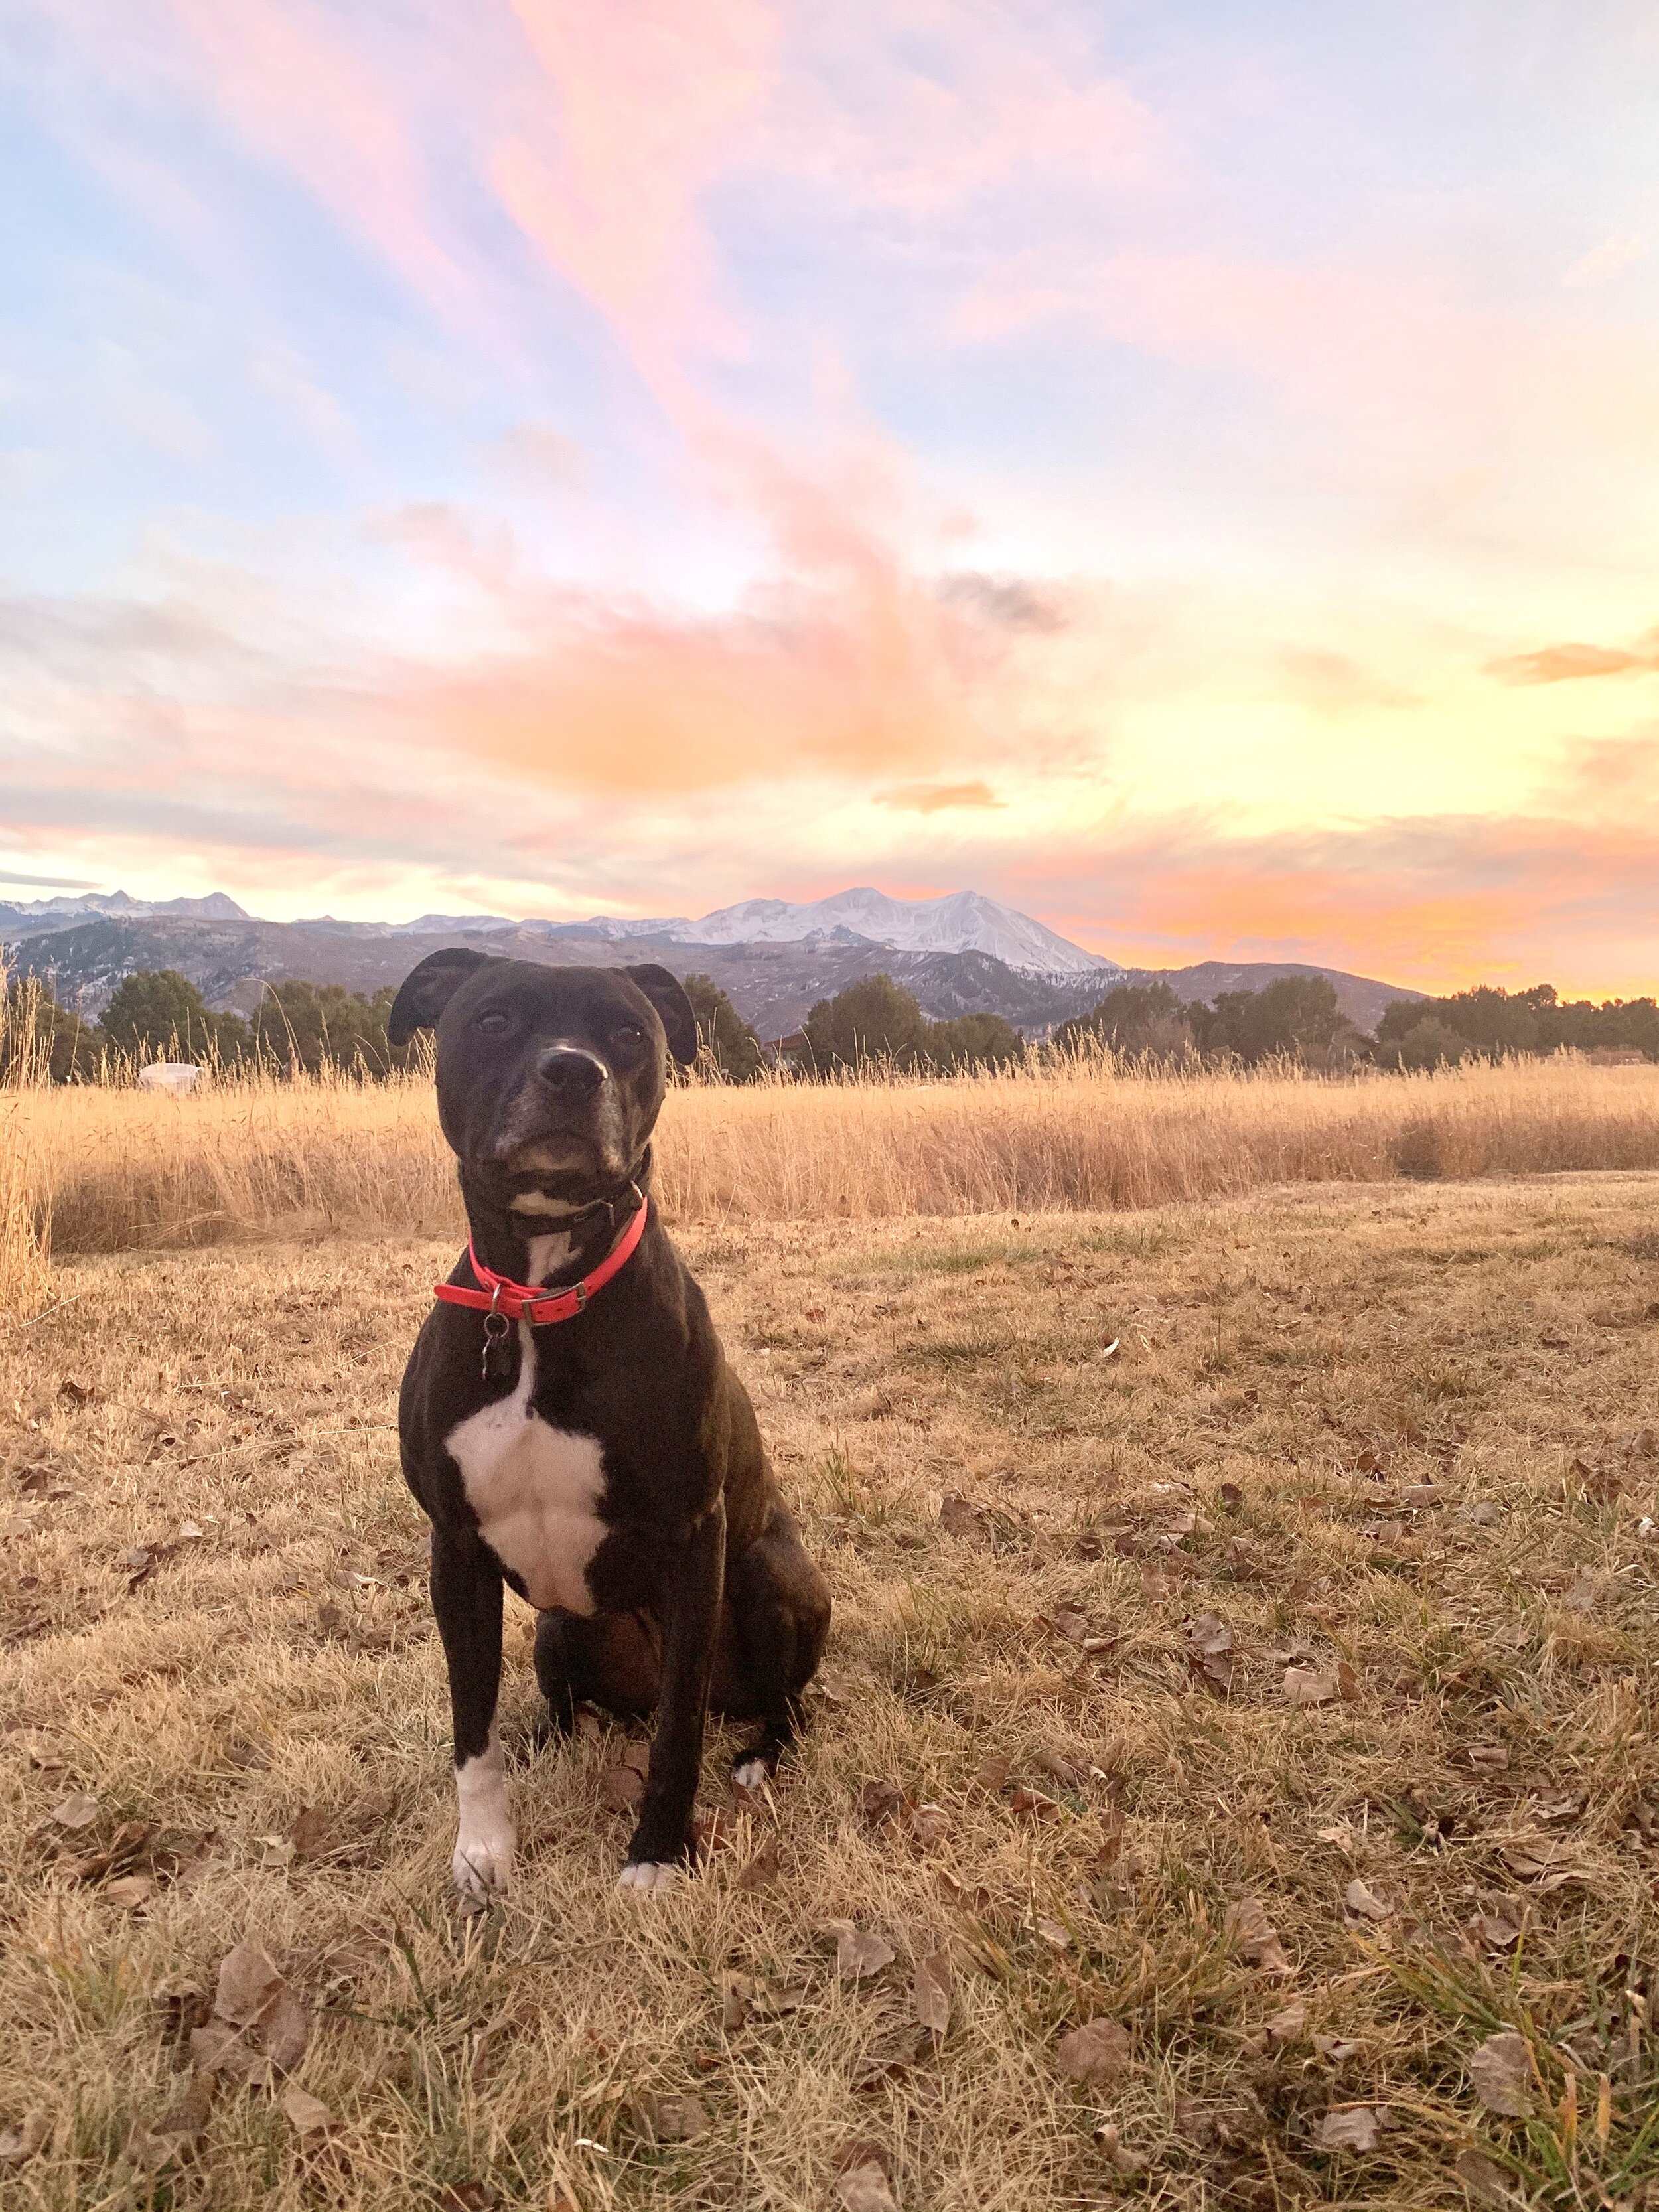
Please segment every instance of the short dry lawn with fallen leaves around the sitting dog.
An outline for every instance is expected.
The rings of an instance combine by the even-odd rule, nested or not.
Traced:
[[[1310,1099],[1310,1126],[1383,1110]],[[672,1102],[670,1183],[688,1128],[732,1126],[697,1115],[776,1110]],[[858,1110],[891,1135],[958,1106]],[[1462,2201],[1473,2148],[1513,2203],[1659,2197],[1659,1177],[684,1241],[834,1582],[834,1697],[776,1792],[781,1880],[737,1885],[772,1818],[741,1812],[646,1911],[613,1887],[615,1739],[535,1747],[518,1606],[522,1882],[480,1920],[445,1896],[442,1668],[389,1425],[449,1243],[60,1261],[73,1303],[4,1325],[0,2126],[42,2115],[7,2205],[816,2212],[856,2137],[907,2212],[1420,2212]],[[128,1586],[133,1546],[155,1564]],[[1203,1613],[1237,1639],[1225,1697],[1188,1666]],[[1292,1708],[1298,1661],[1352,1666],[1352,1699]],[[1011,1783],[984,1790],[995,1754]],[[867,1783],[945,1834],[874,1827]],[[1053,1812],[1022,1816],[1020,1783]],[[71,1792],[97,1801],[75,1834],[51,1818]],[[139,1909],[97,1869],[122,1823],[157,1882]],[[1345,1909],[1356,1880],[1385,1918]],[[1228,1940],[1243,1896],[1290,1978]],[[894,1964],[838,1984],[836,1918]],[[226,2086],[150,2177],[135,2148],[186,2081],[170,2028],[239,1938],[312,2008],[299,2081],[338,2132],[305,2152],[270,2093]],[[951,2028],[887,2070],[940,1949]],[[799,2011],[723,2026],[730,1973]],[[1130,2046],[1079,2090],[1055,2044],[1091,2015]],[[1498,2028],[1537,2068],[1531,2121],[1471,2093]],[[708,2132],[653,2146],[644,2093],[697,2095]],[[1387,2106],[1369,2154],[1321,2148],[1347,2106]]]

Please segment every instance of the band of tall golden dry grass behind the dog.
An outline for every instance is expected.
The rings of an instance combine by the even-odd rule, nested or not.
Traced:
[[[11,1099],[7,1099],[11,1108]],[[15,1097],[60,1252],[352,1230],[449,1232],[425,1077]],[[1113,1210],[1270,1183],[1659,1168],[1659,1066],[1146,1075],[1110,1062],[960,1082],[679,1091],[657,1146],[677,1221]]]

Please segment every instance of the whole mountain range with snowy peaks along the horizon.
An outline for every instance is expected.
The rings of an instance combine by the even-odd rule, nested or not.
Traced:
[[[1259,989],[1279,975],[1327,975],[1360,1029],[1374,1029],[1389,1000],[1420,995],[1301,962],[1126,969],[980,891],[905,900],[860,887],[803,905],[750,898],[697,920],[595,914],[584,922],[504,914],[265,922],[223,891],[159,902],[113,891],[0,902],[0,938],[13,971],[42,975],[62,1004],[86,1015],[95,1015],[135,969],[179,969],[210,1006],[248,1013],[268,982],[290,978],[374,993],[400,982],[440,945],[476,945],[551,967],[657,958],[677,973],[712,975],[761,1037],[787,1035],[814,1000],[876,973],[914,991],[936,1020],[1000,1013],[1026,1035],[1044,1035],[1086,1013],[1115,982],[1164,980],[1192,1002],[1217,991]]]

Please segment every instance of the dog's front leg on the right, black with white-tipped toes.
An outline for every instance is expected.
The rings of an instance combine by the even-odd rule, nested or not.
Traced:
[[[650,1745],[639,1827],[622,1869],[624,1889],[661,1889],[692,1856],[692,1807],[703,1772],[708,1674],[726,1588],[726,1500],[692,1528],[668,1575],[668,1635],[661,1657],[661,1705]]]

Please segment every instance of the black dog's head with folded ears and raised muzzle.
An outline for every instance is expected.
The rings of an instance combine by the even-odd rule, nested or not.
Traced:
[[[462,1179],[529,1212],[615,1190],[650,1139],[668,1055],[697,1057],[690,1000],[655,964],[431,953],[387,1020],[392,1044],[418,1029],[438,1033],[438,1119]]]

